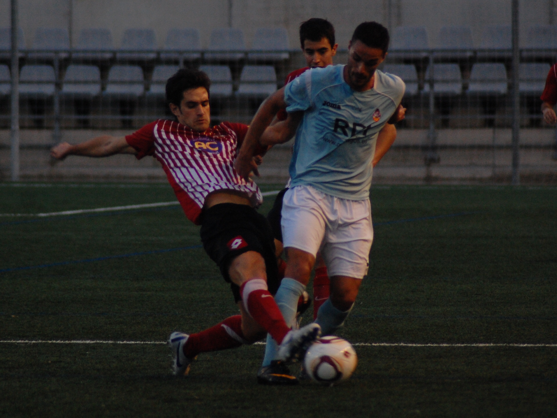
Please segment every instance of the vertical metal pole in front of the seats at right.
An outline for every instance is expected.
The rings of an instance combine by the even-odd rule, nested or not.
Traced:
[[[512,184],[520,184],[519,0],[512,0]]]

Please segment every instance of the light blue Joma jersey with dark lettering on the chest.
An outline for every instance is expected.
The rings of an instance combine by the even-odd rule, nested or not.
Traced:
[[[404,95],[399,77],[375,72],[375,86],[354,91],[344,65],[304,72],[285,88],[286,111],[304,110],[290,162],[290,187],[312,186],[349,200],[369,198],[381,128]]]

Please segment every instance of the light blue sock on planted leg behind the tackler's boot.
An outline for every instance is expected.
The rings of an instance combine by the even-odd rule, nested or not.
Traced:
[[[275,294],[275,302],[278,305],[278,309],[282,313],[282,317],[286,322],[286,325],[291,327],[294,325],[296,319],[296,312],[298,310],[298,299],[302,292],[306,289],[306,286],[301,284],[299,281],[289,278],[284,278]],[[276,341],[267,334],[267,345],[265,346],[265,358],[263,358],[263,367],[271,364],[277,356],[277,343]]]

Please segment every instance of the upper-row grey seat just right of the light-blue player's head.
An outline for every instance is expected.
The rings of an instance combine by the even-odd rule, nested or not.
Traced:
[[[389,47],[389,58],[393,60],[422,60],[427,57],[429,44],[423,26],[399,26],[393,31]],[[416,51],[416,52],[413,52]]]

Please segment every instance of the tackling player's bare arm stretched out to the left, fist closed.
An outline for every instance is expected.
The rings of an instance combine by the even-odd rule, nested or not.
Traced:
[[[111,137],[110,135],[102,135],[102,137],[96,137],[77,145],[62,142],[50,150],[51,157],[56,159],[64,159],[68,155],[108,157],[114,154],[137,154],[137,151],[130,147],[125,137]]]

